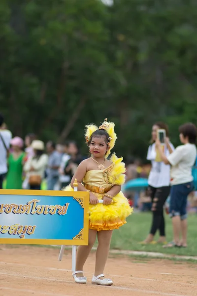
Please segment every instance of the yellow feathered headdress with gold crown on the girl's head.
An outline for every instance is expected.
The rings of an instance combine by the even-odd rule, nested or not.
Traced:
[[[115,124],[113,122],[107,122],[107,118],[101,123],[101,125],[98,127],[95,124],[88,124],[86,125],[86,132],[85,132],[85,138],[86,138],[86,143],[89,144],[91,135],[97,131],[98,129],[104,129],[109,135],[109,142],[107,143],[109,150],[105,154],[105,157],[107,158],[110,154],[111,149],[114,148],[117,136],[114,131],[114,126]]]

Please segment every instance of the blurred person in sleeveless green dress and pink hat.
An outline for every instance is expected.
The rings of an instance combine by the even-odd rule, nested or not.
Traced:
[[[8,157],[8,173],[6,177],[6,189],[22,189],[22,176],[25,152],[23,140],[14,137],[10,142],[12,149]]]

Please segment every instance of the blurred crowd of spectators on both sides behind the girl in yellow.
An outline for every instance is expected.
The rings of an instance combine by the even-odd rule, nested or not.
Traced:
[[[157,138],[158,129],[165,130],[163,146]],[[175,149],[168,139],[167,125],[156,122],[147,153],[149,165],[142,165],[139,159],[128,159],[126,163],[126,182],[139,177],[148,179],[147,188],[131,189],[131,194],[126,192],[131,207],[152,212],[150,232],[142,242],[144,244],[154,243],[157,230],[160,233],[158,242],[166,242],[164,205],[170,196],[168,211],[172,217],[174,241],[168,246],[187,246],[187,197],[194,191],[191,172],[197,157],[197,129],[194,124],[187,123],[179,128],[179,133],[183,145]],[[45,147],[34,134],[28,134],[24,140],[12,138],[0,114],[0,188],[6,179],[6,189],[39,190],[46,180],[46,189],[61,190],[70,184],[85,158],[74,141],[65,145],[49,141]]]

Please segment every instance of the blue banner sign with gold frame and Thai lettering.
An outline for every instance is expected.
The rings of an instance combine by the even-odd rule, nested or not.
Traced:
[[[0,190],[0,243],[88,245],[89,192]]]

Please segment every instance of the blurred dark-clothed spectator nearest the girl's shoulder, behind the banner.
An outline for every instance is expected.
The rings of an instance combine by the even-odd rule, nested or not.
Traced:
[[[75,141],[70,141],[68,143],[67,153],[70,158],[65,166],[65,175],[69,176],[71,180],[76,172],[78,165],[84,158],[81,156],[79,148]]]

